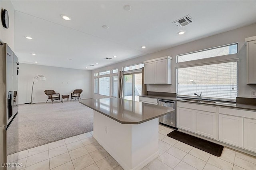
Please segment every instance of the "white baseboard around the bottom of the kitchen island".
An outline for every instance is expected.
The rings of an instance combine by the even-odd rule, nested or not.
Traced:
[[[122,166],[122,168],[124,170],[141,170],[144,166],[146,166],[148,163],[150,163],[152,160],[154,160],[155,158],[157,158],[159,156],[159,151],[157,151],[154,154],[152,154],[151,156],[149,156],[146,160],[144,160],[143,162],[138,164],[136,167],[131,169],[122,160],[120,160],[119,157],[114,153],[114,151],[112,151],[110,148],[108,148],[108,146],[106,146],[102,140],[100,140],[95,135],[93,135],[93,137],[114,158],[114,160],[116,160],[116,162],[118,162],[118,164],[120,166]]]

